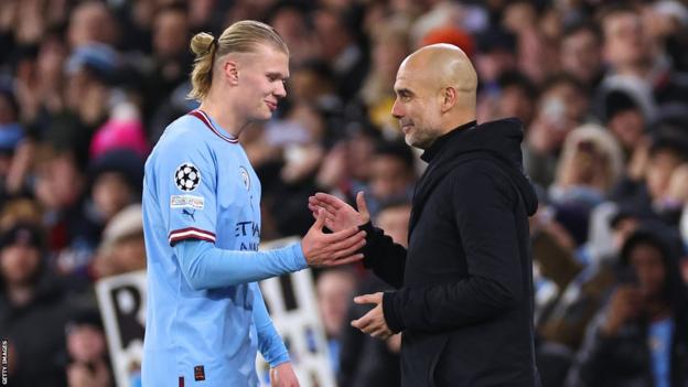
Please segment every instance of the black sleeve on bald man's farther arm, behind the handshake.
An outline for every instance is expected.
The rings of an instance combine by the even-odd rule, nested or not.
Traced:
[[[395,289],[401,288],[406,268],[406,248],[395,244],[391,237],[385,235],[381,229],[373,227],[370,222],[359,228],[367,234],[366,245],[363,248],[363,265],[373,269],[377,277]]]

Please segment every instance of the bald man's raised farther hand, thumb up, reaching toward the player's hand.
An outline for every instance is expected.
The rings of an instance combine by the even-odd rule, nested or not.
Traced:
[[[358,227],[370,221],[370,213],[365,203],[363,191],[356,195],[356,211],[341,198],[319,192],[309,197],[309,209],[318,217],[320,208],[325,211],[325,227],[333,232],[338,232],[348,227]]]

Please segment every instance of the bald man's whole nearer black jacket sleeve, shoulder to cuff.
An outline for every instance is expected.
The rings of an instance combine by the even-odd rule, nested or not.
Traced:
[[[497,166],[455,172],[450,194],[467,264],[467,278],[385,293],[394,332],[439,332],[487,321],[524,302],[514,204],[517,193]]]

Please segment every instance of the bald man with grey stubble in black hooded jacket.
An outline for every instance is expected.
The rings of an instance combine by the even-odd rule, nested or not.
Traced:
[[[431,45],[399,67],[391,114],[428,163],[413,195],[408,249],[358,209],[318,193],[333,230],[367,232],[364,264],[395,287],[361,295],[352,325],[379,338],[402,332],[402,386],[539,386],[533,329],[528,216],[537,197],[523,172],[522,123],[477,125],[477,78],[466,55]]]

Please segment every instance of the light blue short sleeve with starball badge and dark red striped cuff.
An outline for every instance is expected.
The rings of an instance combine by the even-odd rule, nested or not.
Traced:
[[[155,175],[170,245],[184,239],[215,243],[217,166],[212,149],[190,139],[165,150]]]

